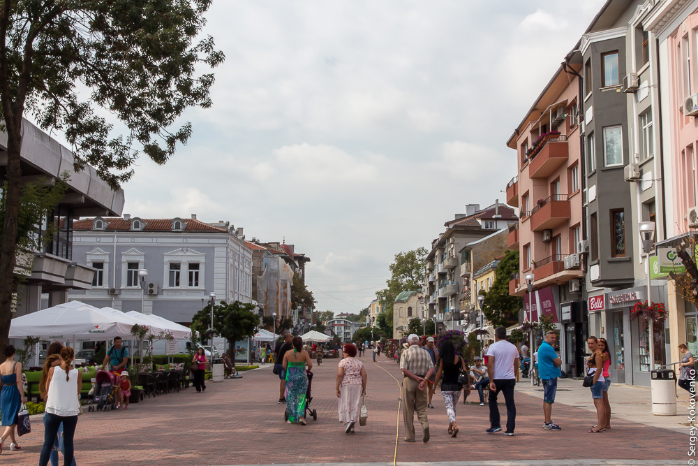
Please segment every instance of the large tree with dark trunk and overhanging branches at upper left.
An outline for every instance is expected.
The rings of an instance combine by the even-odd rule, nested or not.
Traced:
[[[165,163],[211,105],[206,67],[223,53],[202,37],[211,0],[6,0],[0,3],[0,119],[7,136],[0,236],[0,354],[7,344],[22,222],[22,121],[62,133],[75,157],[117,187],[139,152]],[[207,70],[206,70],[207,71]],[[27,113],[29,115],[25,115]],[[114,136],[105,117],[123,124]]]

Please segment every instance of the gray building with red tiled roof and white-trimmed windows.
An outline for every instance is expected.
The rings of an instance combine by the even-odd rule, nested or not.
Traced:
[[[195,215],[142,219],[124,214],[75,221],[73,230],[73,257],[96,271],[91,289],[71,291],[70,300],[178,323],[191,323],[210,293],[216,294],[216,303],[251,303],[252,252],[242,228],[212,226]]]

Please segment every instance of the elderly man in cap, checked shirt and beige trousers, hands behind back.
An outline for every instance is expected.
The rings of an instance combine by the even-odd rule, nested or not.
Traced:
[[[419,347],[419,337],[411,334],[407,342],[410,347],[400,358],[402,379],[402,412],[405,423],[405,442],[415,442],[415,411],[424,432],[424,443],[429,442],[429,419],[426,418],[427,381],[434,372],[431,356]]]

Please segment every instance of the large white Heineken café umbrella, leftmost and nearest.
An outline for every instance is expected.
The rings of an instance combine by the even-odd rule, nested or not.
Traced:
[[[110,337],[131,335],[133,319],[105,312],[80,301],[59,304],[10,322],[10,338],[28,336],[42,340],[107,340]]]

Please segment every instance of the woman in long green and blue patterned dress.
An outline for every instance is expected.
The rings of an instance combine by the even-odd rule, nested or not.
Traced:
[[[303,339],[293,337],[293,351],[283,355],[283,368],[286,370],[286,412],[288,423],[306,425],[305,405],[308,391],[308,370],[313,368],[308,351],[303,351]]]

